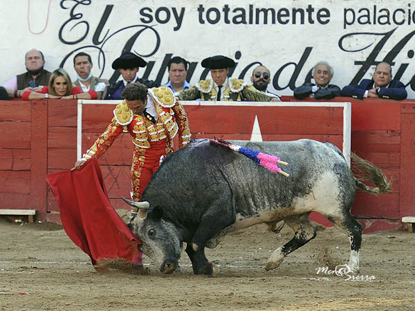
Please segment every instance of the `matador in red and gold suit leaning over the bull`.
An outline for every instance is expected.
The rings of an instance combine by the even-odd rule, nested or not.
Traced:
[[[90,158],[100,158],[118,135],[128,132],[135,145],[131,187],[133,200],[138,201],[160,160],[174,150],[173,138],[178,134],[178,147],[183,147],[190,141],[190,129],[183,106],[169,88],[147,89],[144,84],[131,83],[122,96],[124,101],[114,109],[111,124],[73,169]]]

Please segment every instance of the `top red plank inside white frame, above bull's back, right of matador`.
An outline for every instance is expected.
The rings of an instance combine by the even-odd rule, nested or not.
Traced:
[[[184,106],[192,133],[251,133],[255,116],[263,135],[343,133],[340,107]],[[226,114],[217,113],[218,109]]]

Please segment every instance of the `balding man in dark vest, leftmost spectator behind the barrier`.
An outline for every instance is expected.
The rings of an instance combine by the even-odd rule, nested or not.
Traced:
[[[25,55],[26,73],[15,75],[3,84],[10,97],[21,97],[26,91],[39,91],[48,85],[50,72],[44,70],[45,58],[41,51],[30,50]]]

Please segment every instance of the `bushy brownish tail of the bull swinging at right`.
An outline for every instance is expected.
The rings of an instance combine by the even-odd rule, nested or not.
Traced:
[[[360,189],[369,192],[369,194],[376,195],[385,194],[391,189],[392,181],[387,180],[385,173],[376,167],[375,164],[363,160],[353,152],[351,153],[351,160],[354,164],[353,171],[355,172],[356,186]],[[362,181],[373,182],[376,185],[376,188],[365,185]]]

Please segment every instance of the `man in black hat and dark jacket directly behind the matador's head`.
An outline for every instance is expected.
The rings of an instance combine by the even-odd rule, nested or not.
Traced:
[[[121,92],[124,87],[131,82],[140,82],[145,84],[148,88],[158,87],[156,82],[147,79],[140,79],[137,76],[138,69],[140,67],[145,67],[146,65],[147,63],[144,59],[131,52],[123,53],[120,57],[118,57],[118,59],[113,62],[112,68],[120,71],[122,79],[118,82],[110,84],[105,99],[122,100]]]

